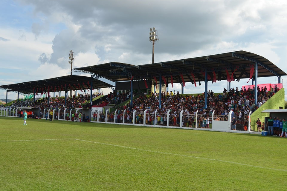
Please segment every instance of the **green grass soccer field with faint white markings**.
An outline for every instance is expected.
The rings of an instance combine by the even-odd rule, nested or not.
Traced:
[[[0,118],[0,190],[286,190],[287,138]]]

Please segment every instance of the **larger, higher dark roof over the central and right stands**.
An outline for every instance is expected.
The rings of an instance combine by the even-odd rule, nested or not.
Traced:
[[[249,78],[251,66],[254,66],[254,63],[258,64],[258,77],[286,76],[286,73],[271,61],[257,54],[243,50],[137,66],[110,62],[74,68],[74,71],[91,73],[94,74],[96,78],[103,77],[114,82],[127,81],[130,80],[132,76],[134,76],[134,80],[149,79],[155,81],[153,77],[159,77],[161,75],[165,76],[168,83],[170,83],[170,76],[172,75],[173,83],[181,83],[182,74],[185,82],[193,83],[193,76],[191,73],[194,74],[195,81],[204,81],[205,70],[207,70],[207,73],[210,76],[209,81],[213,79],[213,71],[216,74],[217,81],[227,80],[227,73],[225,70],[228,70],[230,77],[234,72],[233,76],[235,80]],[[159,81],[159,78],[157,78],[157,80]]]

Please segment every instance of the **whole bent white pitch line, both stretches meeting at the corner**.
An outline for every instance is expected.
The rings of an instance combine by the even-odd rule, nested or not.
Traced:
[[[175,155],[175,156],[182,156],[182,157],[189,157],[189,158],[197,158],[197,159],[204,159],[204,160],[210,160],[210,161],[219,161],[219,162],[230,163],[230,164],[237,164],[237,165],[243,165],[243,166],[248,166],[248,167],[255,167],[255,168],[262,168],[262,169],[268,169],[268,170],[278,170],[278,171],[287,172],[287,170],[285,170],[285,169],[268,168],[268,167],[255,166],[255,165],[251,165],[251,164],[243,164],[243,163],[232,162],[232,161],[224,161],[224,160],[214,159],[214,158],[204,158],[204,157],[197,157],[197,156],[190,156],[190,155],[181,155],[181,154],[175,154],[175,153],[167,153],[167,152],[161,152],[161,151],[153,151],[153,150],[139,149],[139,148],[126,147],[126,146],[116,145],[116,144],[100,143],[100,142],[95,142],[95,141],[87,141],[87,140],[82,140],[82,139],[77,139],[77,138],[32,139],[32,140],[7,140],[7,141],[0,141],[0,142],[15,142],[15,141],[54,141],[54,140],[77,140],[77,141],[84,141],[84,142],[89,142],[89,143],[109,145],[109,146],[114,146],[114,147],[122,147],[122,148],[127,148],[127,149],[134,149],[134,150],[152,152],[152,153],[160,153],[160,154],[165,154],[165,155]]]

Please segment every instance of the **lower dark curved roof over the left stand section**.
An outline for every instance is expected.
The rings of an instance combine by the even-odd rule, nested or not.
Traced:
[[[37,80],[37,81],[27,81],[21,82],[17,84],[9,84],[9,85],[2,85],[0,89],[4,89],[7,91],[14,91],[19,93],[42,93],[48,92],[48,86],[51,88],[50,92],[54,91],[65,91],[65,84],[67,91],[70,90],[84,90],[90,89],[88,84],[91,83],[91,77],[87,76],[76,76],[76,75],[68,75],[68,76],[61,76],[57,78],[49,78],[44,80]],[[88,87],[88,88],[87,88]],[[93,88],[105,88],[105,87],[114,87],[111,84],[103,82],[101,80],[93,78]],[[35,89],[34,89],[35,88]]]

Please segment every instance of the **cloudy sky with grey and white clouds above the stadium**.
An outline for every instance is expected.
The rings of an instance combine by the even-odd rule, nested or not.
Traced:
[[[151,63],[150,27],[160,39],[155,62],[245,50],[287,72],[287,1],[1,0],[0,26],[0,85],[69,74],[69,50],[75,52],[73,67]],[[204,91],[204,85],[186,85],[185,93]],[[221,92],[226,86],[220,81],[208,89]],[[179,84],[172,90],[180,90]],[[0,90],[0,98],[6,91]]]

